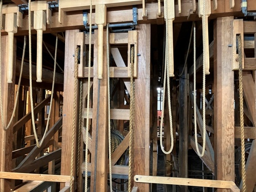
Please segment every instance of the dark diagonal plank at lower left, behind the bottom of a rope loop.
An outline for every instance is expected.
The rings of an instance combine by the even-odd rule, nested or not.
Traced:
[[[23,159],[23,161],[17,166],[17,168],[13,169],[13,171],[17,171],[20,168],[22,168],[23,166],[26,166],[28,164],[30,164],[35,157],[38,155],[38,153],[40,151],[42,151],[43,149],[45,149],[46,145],[48,144],[48,142],[50,141],[50,139],[52,138],[52,136],[55,134],[56,131],[58,131],[60,128],[62,127],[62,116],[60,117],[60,119],[56,122],[56,124],[47,132],[46,136],[45,136],[45,140],[42,142],[41,147],[37,147],[35,146],[34,149],[32,149],[29,154],[26,156],[25,159]],[[63,130],[63,129],[62,129]]]

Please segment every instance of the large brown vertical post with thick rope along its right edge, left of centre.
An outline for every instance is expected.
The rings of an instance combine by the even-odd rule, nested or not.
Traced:
[[[72,146],[72,121],[73,121],[73,97],[74,97],[74,66],[75,36],[79,30],[66,31],[65,40],[65,70],[63,90],[63,123],[62,123],[62,150],[61,150],[61,175],[70,175],[71,146]],[[77,123],[77,122],[76,122]],[[75,138],[76,142],[76,138]],[[76,151],[76,147],[75,147]],[[75,162],[74,162],[75,163]],[[76,163],[75,163],[76,165]],[[76,171],[76,170],[75,170]],[[63,188],[65,184],[61,184]]]

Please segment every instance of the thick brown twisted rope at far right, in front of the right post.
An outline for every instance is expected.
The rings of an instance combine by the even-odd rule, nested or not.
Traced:
[[[238,56],[239,56],[239,103],[240,103],[240,127],[241,127],[241,159],[242,159],[242,182],[243,192],[246,191],[245,173],[245,149],[244,149],[244,103],[243,103],[243,70],[242,70],[242,42],[241,35],[238,36]]]

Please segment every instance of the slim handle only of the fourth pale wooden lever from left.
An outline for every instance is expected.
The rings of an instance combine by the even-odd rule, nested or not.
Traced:
[[[169,57],[169,77],[174,77],[173,19],[168,19],[168,57]]]

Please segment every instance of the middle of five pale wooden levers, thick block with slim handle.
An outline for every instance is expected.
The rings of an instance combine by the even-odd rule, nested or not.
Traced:
[[[101,80],[103,73],[103,28],[107,23],[107,7],[105,4],[95,6],[95,16],[95,23],[98,26],[97,78]]]

